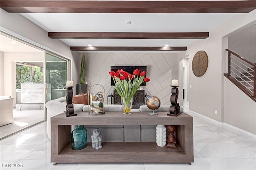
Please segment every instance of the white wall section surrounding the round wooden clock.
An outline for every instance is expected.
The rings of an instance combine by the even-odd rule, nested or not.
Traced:
[[[208,55],[208,69],[201,77],[192,72],[191,62],[197,51],[206,51]],[[190,110],[221,121],[221,39],[217,35],[197,41],[188,46],[187,54],[190,57]],[[214,111],[218,111],[218,115]]]

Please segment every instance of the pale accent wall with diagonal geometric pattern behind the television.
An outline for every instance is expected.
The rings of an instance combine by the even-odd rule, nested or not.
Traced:
[[[89,53],[86,64],[86,82],[88,89],[94,84],[104,87],[106,96],[113,94],[110,85],[111,65],[146,65],[150,82],[144,86],[145,94],[157,96],[161,104],[170,104],[172,80],[178,79],[178,62],[176,53]],[[102,90],[94,86],[92,92]]]

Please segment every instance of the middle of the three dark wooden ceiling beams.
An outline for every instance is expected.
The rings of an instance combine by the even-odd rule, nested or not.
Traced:
[[[125,33],[125,32],[48,32],[53,39],[206,39],[209,32]]]

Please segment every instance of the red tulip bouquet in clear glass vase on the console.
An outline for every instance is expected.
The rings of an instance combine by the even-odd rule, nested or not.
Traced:
[[[140,70],[136,68],[133,71],[133,74],[129,74],[123,69],[118,69],[116,72],[114,72],[113,70],[110,71],[109,74],[114,80],[116,91],[122,97],[124,112],[130,113],[130,102],[132,100],[132,96],[138,90],[142,82],[150,81],[148,77],[144,77],[146,71],[140,72]]]

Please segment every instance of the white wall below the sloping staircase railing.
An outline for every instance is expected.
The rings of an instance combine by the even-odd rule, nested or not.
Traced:
[[[224,78],[224,122],[256,134],[256,102]]]

